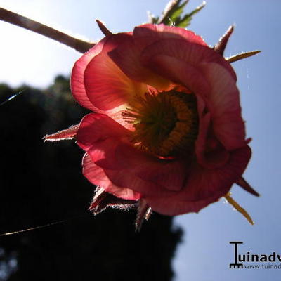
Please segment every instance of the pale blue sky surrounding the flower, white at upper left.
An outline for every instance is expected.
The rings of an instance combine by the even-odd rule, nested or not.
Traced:
[[[46,22],[93,41],[102,34],[94,20],[106,22],[112,32],[132,30],[147,20],[147,11],[159,15],[166,0],[0,0],[0,6]],[[190,0],[188,9],[201,1]],[[242,114],[247,136],[253,138],[253,156],[244,174],[261,193],[257,198],[237,186],[233,197],[255,221],[251,226],[223,200],[200,211],[176,217],[185,230],[184,243],[174,259],[176,281],[271,280],[281,269],[229,269],[233,246],[243,241],[243,253],[281,253],[280,228],[280,9],[278,0],[209,0],[192,20],[190,29],[214,45],[229,25],[235,24],[226,55],[260,49],[262,53],[236,63]],[[13,86],[51,84],[55,74],[69,74],[80,54],[32,32],[0,22],[0,82]],[[28,65],[28,67],[27,67]]]

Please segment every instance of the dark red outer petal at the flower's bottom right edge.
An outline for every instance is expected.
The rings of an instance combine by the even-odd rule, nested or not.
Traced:
[[[198,212],[225,195],[243,174],[251,157],[248,146],[231,153],[228,163],[219,169],[204,169],[195,164],[181,192],[170,197],[144,197],[154,211],[176,216]]]

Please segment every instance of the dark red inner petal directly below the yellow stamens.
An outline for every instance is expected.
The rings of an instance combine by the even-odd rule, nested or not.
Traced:
[[[170,191],[181,190],[185,183],[183,162],[157,159],[120,138],[98,141],[87,151],[110,181],[129,186],[143,195],[169,196]]]

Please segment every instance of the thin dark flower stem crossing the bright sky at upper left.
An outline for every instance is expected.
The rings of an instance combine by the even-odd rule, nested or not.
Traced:
[[[13,25],[18,25],[19,27],[23,27],[27,30],[44,35],[48,38],[65,44],[70,48],[74,48],[74,50],[79,51],[80,53],[85,53],[89,50],[89,48],[94,46],[94,43],[71,37],[70,35],[55,30],[52,27],[48,27],[40,22],[30,20],[30,18],[26,18],[18,13],[13,13],[4,8],[0,8],[0,20],[4,20],[5,22],[9,22]]]

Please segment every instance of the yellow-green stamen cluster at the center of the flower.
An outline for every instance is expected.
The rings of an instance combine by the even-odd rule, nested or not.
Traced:
[[[123,116],[135,128],[131,142],[155,155],[173,157],[194,147],[198,115],[192,93],[146,93]]]

